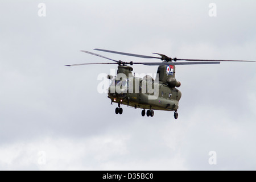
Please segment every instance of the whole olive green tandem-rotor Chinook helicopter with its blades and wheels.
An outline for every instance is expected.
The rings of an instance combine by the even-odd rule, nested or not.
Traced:
[[[92,65],[92,64],[118,64],[117,76],[108,75],[111,84],[108,89],[108,98],[111,104],[117,103],[115,114],[122,114],[123,109],[121,105],[131,106],[135,109],[142,109],[142,116],[153,117],[154,110],[174,111],[174,118],[178,118],[177,109],[179,109],[179,101],[181,92],[177,88],[181,85],[175,78],[175,65],[194,65],[194,64],[220,64],[221,61],[241,61],[241,62],[255,62],[243,60],[202,60],[202,59],[177,59],[171,58],[160,53],[154,53],[159,57],[137,55],[133,53],[109,51],[105,49],[94,49],[96,51],[103,51],[115,53],[119,55],[140,57],[145,59],[160,59],[162,62],[125,62],[110,59],[108,57],[92,53],[88,51],[81,51],[89,53],[94,56],[102,57],[113,61],[113,63],[84,63],[66,65],[68,67],[78,65]],[[177,62],[183,61],[183,62]],[[184,62],[188,61],[188,62]],[[135,77],[132,74],[134,64],[142,64],[148,66],[158,65],[155,80],[151,76],[144,76],[143,78]]]

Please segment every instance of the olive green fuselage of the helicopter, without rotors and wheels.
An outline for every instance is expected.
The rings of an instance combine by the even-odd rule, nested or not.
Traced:
[[[177,111],[181,92],[163,82],[161,71],[166,72],[166,66],[159,66],[155,80],[150,76],[134,77],[131,71],[131,67],[118,67],[117,76],[112,78],[108,90],[112,102],[141,109]]]

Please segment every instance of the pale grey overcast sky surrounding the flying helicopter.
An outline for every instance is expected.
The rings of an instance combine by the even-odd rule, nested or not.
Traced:
[[[97,90],[115,65],[64,67],[109,62],[80,50],[148,61],[94,48],[256,60],[255,9],[254,0],[1,1],[0,169],[256,170],[256,63],[177,66],[177,120],[126,106],[116,115]]]

